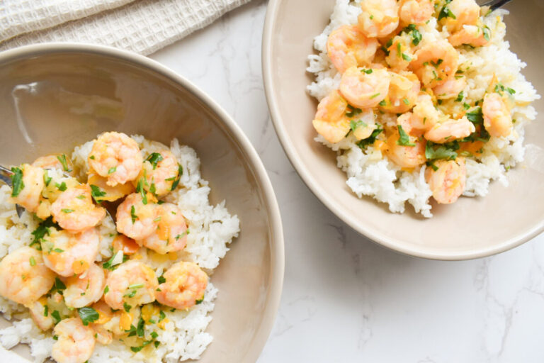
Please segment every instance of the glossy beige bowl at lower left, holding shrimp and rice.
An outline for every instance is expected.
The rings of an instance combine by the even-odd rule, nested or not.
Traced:
[[[263,164],[220,106],[147,57],[48,44],[0,54],[0,109],[4,165],[67,152],[106,130],[166,144],[178,138],[193,147],[210,181],[211,202],[225,199],[242,230],[212,276],[219,289],[208,328],[214,340],[200,362],[259,357],[280,300],[283,233]]]

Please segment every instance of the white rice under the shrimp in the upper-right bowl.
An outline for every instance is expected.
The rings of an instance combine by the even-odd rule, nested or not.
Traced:
[[[341,79],[341,74],[336,71],[327,55],[327,38],[339,26],[357,23],[357,16],[361,13],[360,2],[361,0],[336,0],[329,25],[323,33],[314,38],[314,49],[318,54],[308,56],[307,71],[314,74],[315,81],[307,86],[307,90],[318,101],[338,89]],[[529,106],[529,103],[540,99],[540,96],[521,74],[521,69],[526,67],[526,64],[509,50],[510,45],[504,40],[506,26],[502,23],[502,18],[507,13],[504,10],[497,10],[484,18],[485,25],[492,29],[489,45],[475,50],[460,50],[460,67],[463,69],[470,67],[470,71],[465,72],[466,102],[473,103],[482,99],[495,74],[504,86],[516,90],[514,99],[517,105],[512,110],[512,118],[516,123],[511,135],[506,138],[492,137],[485,144],[483,154],[477,160],[467,157],[467,183],[464,196],[485,196],[489,190],[489,183],[493,180],[498,180],[504,185],[508,184],[506,172],[523,161],[525,152],[523,128],[536,118],[536,110]],[[418,29],[423,35],[421,44],[448,37],[447,30],[441,33],[436,30],[436,18],[431,18],[428,24],[418,26]],[[379,116],[378,121],[396,123],[396,118],[386,114]],[[383,135],[378,137],[380,138],[383,138]],[[432,217],[429,203],[432,193],[424,178],[425,165],[413,172],[402,171],[373,147],[361,150],[352,135],[334,145],[324,140],[321,135],[315,140],[336,151],[337,166],[346,172],[348,177],[346,184],[359,198],[363,195],[372,196],[380,202],[388,203],[390,211],[395,213],[403,213],[405,203],[408,202],[416,213],[421,213],[427,218]]]

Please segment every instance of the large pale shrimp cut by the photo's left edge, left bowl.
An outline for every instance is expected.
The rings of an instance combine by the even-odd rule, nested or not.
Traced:
[[[47,294],[55,274],[45,266],[41,252],[21,247],[0,262],[0,281],[1,296],[28,306]]]

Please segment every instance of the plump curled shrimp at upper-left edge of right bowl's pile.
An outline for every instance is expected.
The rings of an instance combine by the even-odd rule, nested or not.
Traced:
[[[378,40],[367,38],[358,26],[341,26],[333,30],[327,40],[329,58],[340,73],[350,67],[369,64],[376,50]]]

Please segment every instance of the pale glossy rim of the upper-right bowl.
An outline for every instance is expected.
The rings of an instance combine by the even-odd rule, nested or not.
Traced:
[[[482,247],[465,252],[436,252],[436,250],[429,250],[429,248],[427,247],[414,245],[409,246],[402,242],[402,240],[390,238],[383,233],[378,233],[373,228],[368,228],[365,225],[361,225],[361,223],[358,223],[358,220],[356,220],[356,218],[353,218],[353,216],[344,211],[343,208],[341,208],[341,205],[339,203],[336,203],[336,201],[331,196],[329,196],[328,192],[321,186],[319,186],[317,181],[312,178],[309,169],[302,162],[302,159],[295,150],[295,147],[291,145],[287,130],[285,129],[280,118],[278,100],[274,96],[276,94],[277,87],[274,83],[272,69],[272,62],[274,59],[272,54],[272,43],[275,36],[273,30],[276,26],[276,21],[278,19],[278,9],[283,3],[284,0],[269,0],[268,6],[266,8],[266,18],[263,27],[261,49],[261,67],[263,72],[266,101],[268,103],[268,109],[271,114],[274,129],[276,130],[276,134],[278,135],[280,144],[282,145],[283,150],[285,151],[285,154],[287,155],[290,163],[293,165],[302,181],[304,181],[306,186],[310,189],[310,191],[312,191],[314,196],[316,196],[317,199],[319,199],[319,201],[324,204],[324,206],[329,208],[329,211],[334,213],[334,215],[336,215],[338,218],[344,221],[344,223],[349,225],[358,233],[364,235],[366,238],[370,239],[375,243],[378,243],[379,245],[385,246],[404,255],[445,261],[477,259],[496,255],[497,253],[511,250],[512,248],[517,247],[524,242],[527,242],[528,240],[536,237],[540,233],[544,232],[544,220],[542,220],[540,224],[532,226],[525,233],[518,235],[516,238],[510,238],[509,240],[506,240],[499,245]],[[304,72],[306,72],[305,69]],[[353,197],[356,198],[356,195],[353,194]]]

